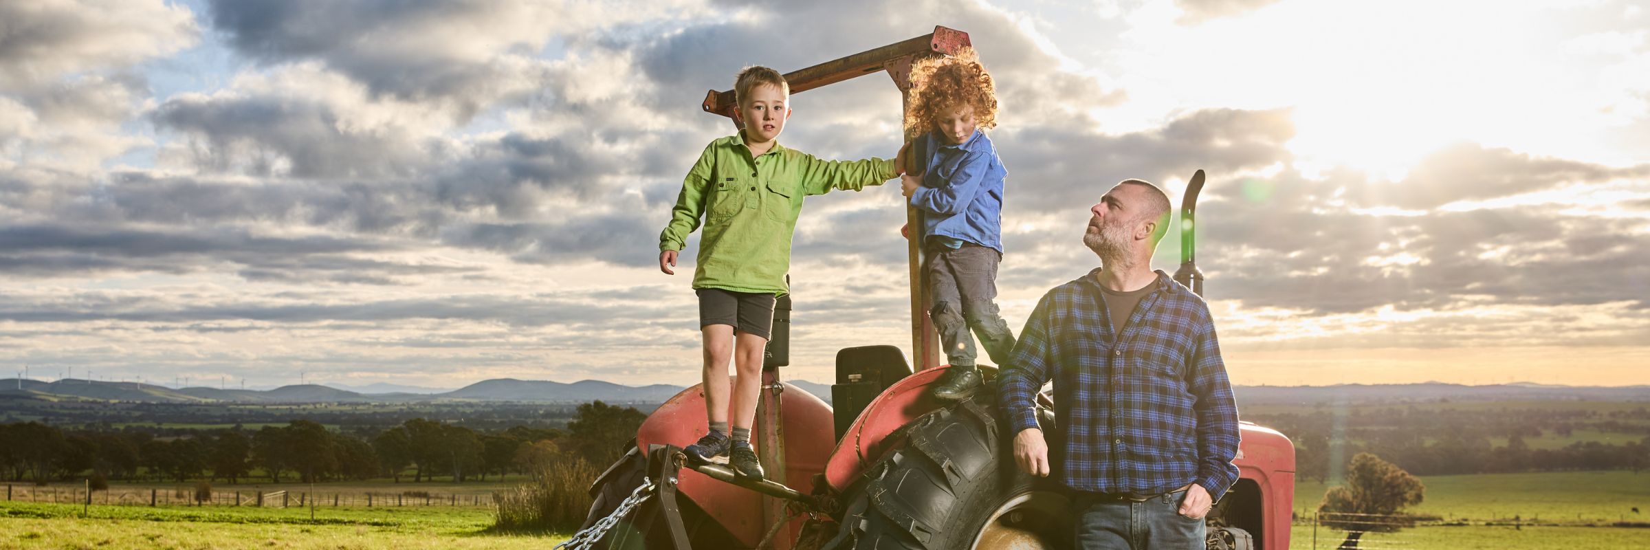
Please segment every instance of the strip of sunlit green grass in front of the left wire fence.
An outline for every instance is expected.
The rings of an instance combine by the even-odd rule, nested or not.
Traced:
[[[0,548],[549,548],[564,535],[495,533],[485,509],[81,507],[0,502]]]

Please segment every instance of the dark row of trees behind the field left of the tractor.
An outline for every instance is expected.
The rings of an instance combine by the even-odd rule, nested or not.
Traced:
[[[69,481],[86,476],[122,481],[211,479],[239,482],[257,474],[269,482],[393,477],[411,469],[412,482],[531,472],[561,456],[609,464],[635,438],[645,415],[602,401],[579,405],[568,429],[513,426],[477,431],[412,418],[376,434],[346,434],[312,420],[259,429],[214,429],[157,438],[140,431],[61,429],[30,423],[0,424],[0,477]]]

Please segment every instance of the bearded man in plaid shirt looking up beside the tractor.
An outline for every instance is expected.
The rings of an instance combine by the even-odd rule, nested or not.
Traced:
[[[1038,302],[1000,377],[1015,461],[1072,491],[1081,548],[1203,548],[1203,515],[1238,481],[1238,406],[1201,297],[1162,271],[1168,197],[1117,183],[1082,244],[1102,268]],[[1054,380],[1049,458],[1035,396]]]

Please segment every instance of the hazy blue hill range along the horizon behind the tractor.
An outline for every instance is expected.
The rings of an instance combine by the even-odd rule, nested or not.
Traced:
[[[787,380],[830,403],[830,385]],[[21,390],[18,388],[21,386]],[[573,383],[549,380],[482,380],[446,393],[360,393],[325,385],[290,385],[274,390],[167,388],[134,382],[0,380],[0,398],[153,401],[153,403],[417,403],[417,401],[544,401],[544,403],[663,403],[683,386],[627,386],[601,380]],[[1312,403],[1426,403],[1426,401],[1650,401],[1650,386],[1558,386],[1508,383],[1467,386],[1455,383],[1333,385],[1333,386],[1236,386],[1239,405]]]

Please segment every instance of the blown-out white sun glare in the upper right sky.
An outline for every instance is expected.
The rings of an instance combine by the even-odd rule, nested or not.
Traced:
[[[1584,10],[1556,0],[1285,0],[1186,26],[1172,3],[1150,3],[1122,36],[1135,48],[1109,69],[1130,102],[1102,121],[1119,130],[1188,107],[1287,107],[1294,168],[1308,177],[1350,167],[1401,180],[1464,140],[1609,162],[1619,154],[1576,150],[1576,135],[1642,107],[1599,88],[1640,81],[1622,74],[1634,74],[1625,53],[1643,36],[1576,23],[1602,17]]]

